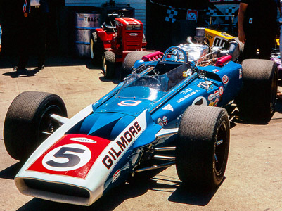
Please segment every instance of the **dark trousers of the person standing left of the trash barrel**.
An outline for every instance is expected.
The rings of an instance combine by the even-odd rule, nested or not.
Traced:
[[[44,65],[46,55],[46,21],[47,14],[41,8],[31,7],[27,17],[23,17],[23,30],[20,33],[18,68],[27,66],[28,58],[33,52],[38,56],[38,67]]]

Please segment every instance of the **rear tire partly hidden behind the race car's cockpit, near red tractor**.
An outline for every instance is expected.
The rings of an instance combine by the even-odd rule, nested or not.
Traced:
[[[132,67],[136,60],[142,59],[143,56],[147,56],[155,51],[132,51],[125,56],[122,63],[121,77],[127,77],[132,71]]]

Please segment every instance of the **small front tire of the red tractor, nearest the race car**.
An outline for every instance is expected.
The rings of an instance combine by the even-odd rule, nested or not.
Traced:
[[[103,75],[107,79],[112,79],[115,75],[115,53],[105,51],[103,53]]]

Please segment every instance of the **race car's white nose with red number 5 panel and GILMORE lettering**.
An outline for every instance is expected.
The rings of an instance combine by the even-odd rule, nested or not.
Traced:
[[[154,129],[149,133],[146,129],[150,125]],[[132,163],[129,153],[139,146],[137,139],[146,136],[148,140],[148,134],[160,129],[145,110],[113,141],[89,134],[63,134],[58,141],[50,141],[56,135],[53,134],[46,140],[49,146],[45,141],[23,165],[15,176],[15,184],[28,196],[91,205],[118,180],[124,164]]]

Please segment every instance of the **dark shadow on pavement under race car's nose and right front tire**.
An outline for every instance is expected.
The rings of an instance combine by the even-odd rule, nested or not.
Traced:
[[[166,184],[169,182],[169,184]],[[159,175],[153,179],[136,179],[132,183],[125,183],[116,188],[113,188],[108,193],[98,199],[94,204],[89,207],[79,206],[79,205],[69,205],[65,203],[55,203],[47,200],[41,200],[38,198],[33,198],[28,203],[20,207],[18,211],[23,210],[114,210],[118,207],[124,200],[129,198],[135,198],[145,194],[148,190],[152,191],[164,191],[172,193],[169,197],[169,201],[176,203],[186,203],[189,205],[207,205],[214,194],[217,192],[215,190],[212,193],[193,193],[187,191],[185,188],[179,186],[181,182],[172,179],[161,179]],[[176,189],[176,191],[175,191]]]

